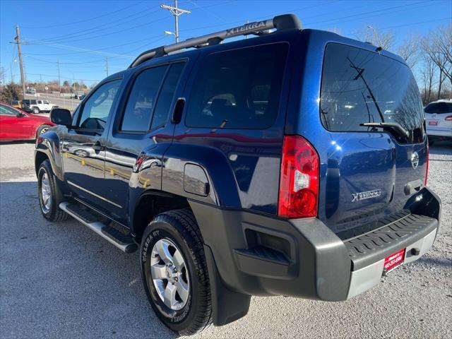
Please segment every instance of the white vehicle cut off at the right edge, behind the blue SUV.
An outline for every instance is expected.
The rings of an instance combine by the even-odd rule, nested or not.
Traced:
[[[429,142],[452,139],[452,100],[430,102],[424,108]]]

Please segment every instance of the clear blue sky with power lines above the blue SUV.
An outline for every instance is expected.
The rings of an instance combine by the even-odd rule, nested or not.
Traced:
[[[146,49],[171,44],[174,16],[160,8],[167,1],[6,1],[0,0],[0,67],[6,82],[20,81],[16,25],[23,40],[27,81],[83,81],[90,85],[126,69]],[[429,1],[230,1],[179,0],[191,11],[179,17],[180,40],[295,13],[303,28],[335,30],[346,37],[369,30],[391,30],[396,46],[409,35],[427,35],[452,21],[451,0]]]

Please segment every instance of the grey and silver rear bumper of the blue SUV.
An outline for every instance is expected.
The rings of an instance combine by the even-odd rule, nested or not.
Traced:
[[[386,256],[406,249],[408,263],[431,248],[441,202],[428,188],[420,194],[422,201],[412,203],[410,218],[345,241],[316,218],[283,220],[195,201],[190,205],[227,289],[340,301],[378,284]],[[420,253],[412,254],[413,248]]]

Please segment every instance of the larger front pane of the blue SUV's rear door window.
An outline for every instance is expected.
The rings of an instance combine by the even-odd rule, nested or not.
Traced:
[[[155,101],[168,66],[145,69],[135,79],[121,123],[121,131],[148,131]]]

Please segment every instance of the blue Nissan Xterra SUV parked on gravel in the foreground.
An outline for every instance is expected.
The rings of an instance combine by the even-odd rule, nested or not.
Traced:
[[[42,215],[138,250],[180,334],[241,318],[251,295],[355,297],[439,227],[410,68],[293,15],[151,49],[51,117]]]

